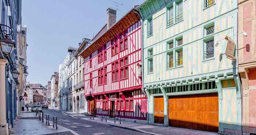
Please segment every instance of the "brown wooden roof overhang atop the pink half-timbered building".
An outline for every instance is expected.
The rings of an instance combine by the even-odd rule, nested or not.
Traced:
[[[126,13],[118,22],[113,24],[104,34],[102,34],[97,40],[87,46],[79,55],[83,58],[87,58],[90,54],[97,51],[101,46],[108,43],[110,40],[116,37],[116,35],[124,32],[133,24],[140,20],[138,10],[133,7],[128,13]]]

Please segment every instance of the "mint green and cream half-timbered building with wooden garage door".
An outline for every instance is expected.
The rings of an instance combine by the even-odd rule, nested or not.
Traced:
[[[146,0],[138,9],[148,123],[240,134],[240,78],[224,39],[237,44],[237,0]]]

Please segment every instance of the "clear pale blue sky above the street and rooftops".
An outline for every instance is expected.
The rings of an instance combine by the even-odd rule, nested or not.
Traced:
[[[115,0],[117,20],[144,0]],[[92,38],[106,24],[110,0],[22,0],[22,25],[27,26],[27,65],[30,83],[46,85],[68,46],[78,47],[82,38]]]

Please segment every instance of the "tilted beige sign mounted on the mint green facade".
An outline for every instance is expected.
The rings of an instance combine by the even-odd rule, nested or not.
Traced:
[[[225,39],[227,40],[225,55],[228,58],[232,59],[233,61],[236,61],[237,58],[234,57],[234,53],[235,53],[235,49],[236,49],[236,43],[234,42],[234,40],[232,40],[228,36],[226,36]]]

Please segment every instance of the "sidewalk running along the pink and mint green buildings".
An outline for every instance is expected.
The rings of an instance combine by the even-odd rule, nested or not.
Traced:
[[[192,129],[186,129],[186,128],[177,128],[177,127],[160,127],[160,126],[154,126],[154,125],[148,125],[146,123],[134,123],[129,121],[121,121],[116,120],[116,123],[114,122],[114,118],[107,117],[106,119],[103,119],[101,121],[101,116],[99,117],[93,117],[90,119],[90,116],[86,116],[78,113],[73,113],[71,111],[61,111],[65,115],[74,117],[76,119],[83,119],[83,120],[89,120],[94,121],[98,123],[104,123],[109,124],[112,126],[117,126],[121,128],[126,128],[129,130],[139,131],[146,134],[151,135],[218,135],[216,132],[207,132],[207,131],[200,131],[200,130],[192,130]],[[80,118],[81,117],[81,118]]]

